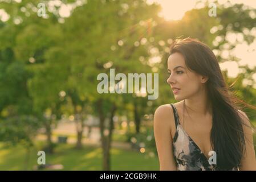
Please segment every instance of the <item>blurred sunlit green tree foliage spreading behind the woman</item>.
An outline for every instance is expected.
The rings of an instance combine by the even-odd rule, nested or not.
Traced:
[[[48,125],[50,129],[62,115],[99,117],[99,101],[105,117],[115,105],[116,115],[125,115],[129,121],[140,121],[157,106],[175,102],[166,84],[166,60],[170,44],[178,37],[190,36],[208,44],[218,50],[220,62],[238,61],[232,55],[221,56],[239,43],[230,43],[227,34],[239,33],[248,44],[255,40],[246,31],[256,27],[251,17],[256,10],[242,4],[216,2],[218,15],[210,17],[206,2],[201,9],[187,11],[181,20],[166,21],[157,15],[159,5],[147,5],[143,0],[88,0],[79,6],[74,6],[75,0],[63,1],[74,6],[67,18],[60,16],[59,6],[50,7],[48,1],[48,18],[39,17],[35,11],[39,2],[0,4],[10,15],[6,22],[0,20],[0,140],[13,144],[32,144],[39,127]],[[17,19],[21,22],[15,23]],[[154,56],[161,60],[154,63]],[[97,75],[109,76],[110,68],[125,75],[159,73],[159,98],[148,101],[136,94],[97,93]],[[235,82],[230,90],[237,97],[255,106],[252,76],[256,70],[241,68],[244,72],[234,79],[224,72],[225,79],[229,85]],[[245,79],[253,84],[244,86]],[[256,119],[255,110],[246,111],[250,119]],[[156,155],[152,127],[128,138],[128,142],[136,139],[133,144],[137,149],[144,146],[145,154]],[[67,160],[70,164],[73,159]]]

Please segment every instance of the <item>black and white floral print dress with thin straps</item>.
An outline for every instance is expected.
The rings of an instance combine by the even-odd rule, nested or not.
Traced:
[[[217,171],[215,164],[210,164],[204,153],[197,144],[189,137],[183,127],[180,125],[177,109],[173,104],[174,119],[176,124],[176,133],[173,138],[173,155],[176,160],[178,171]],[[230,169],[238,171],[238,167]]]

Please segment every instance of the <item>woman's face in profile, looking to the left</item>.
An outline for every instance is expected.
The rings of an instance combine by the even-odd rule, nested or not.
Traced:
[[[173,90],[175,100],[181,101],[200,94],[205,78],[189,71],[181,53],[173,53],[168,58],[168,84]]]

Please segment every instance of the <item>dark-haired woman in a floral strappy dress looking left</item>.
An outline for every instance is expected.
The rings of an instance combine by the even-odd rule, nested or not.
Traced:
[[[174,42],[168,72],[180,102],[155,111],[160,170],[256,170],[250,121],[235,106],[209,47],[191,38]]]

